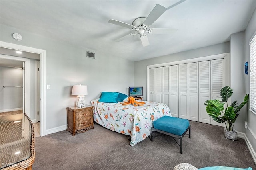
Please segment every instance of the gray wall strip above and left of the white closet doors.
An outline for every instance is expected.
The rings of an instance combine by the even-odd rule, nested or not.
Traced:
[[[199,49],[182,51],[180,53],[170,54],[161,57],[155,57],[152,59],[141,60],[134,62],[134,86],[143,86],[143,97],[146,100],[146,66],[168,63],[173,61],[180,61],[186,59],[192,59],[197,57],[205,57],[209,55],[216,55],[230,52],[230,43],[221,43],[211,45],[208,47],[202,47]]]

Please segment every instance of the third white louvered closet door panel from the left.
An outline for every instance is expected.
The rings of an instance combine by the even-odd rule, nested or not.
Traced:
[[[162,102],[170,107],[170,66],[162,68],[163,79],[163,100]]]

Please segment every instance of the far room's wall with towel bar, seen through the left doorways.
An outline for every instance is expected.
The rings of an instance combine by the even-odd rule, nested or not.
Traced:
[[[23,70],[12,67],[0,67],[0,110],[22,108],[22,88],[4,88],[3,86],[22,86]]]

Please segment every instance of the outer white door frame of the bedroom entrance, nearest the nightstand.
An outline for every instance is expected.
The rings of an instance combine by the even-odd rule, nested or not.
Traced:
[[[46,135],[46,50],[0,41],[0,47],[40,55],[40,136]]]

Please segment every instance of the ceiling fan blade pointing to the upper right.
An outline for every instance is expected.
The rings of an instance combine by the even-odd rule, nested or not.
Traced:
[[[150,12],[146,20],[144,21],[143,25],[150,26],[154,21],[156,21],[165,11],[167,10],[166,7],[156,4],[155,8]]]

